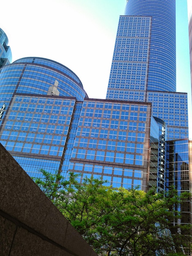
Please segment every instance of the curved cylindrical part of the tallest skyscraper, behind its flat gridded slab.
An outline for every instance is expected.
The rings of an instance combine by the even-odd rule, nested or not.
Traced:
[[[125,15],[152,17],[147,90],[175,92],[175,0],[127,0]]]

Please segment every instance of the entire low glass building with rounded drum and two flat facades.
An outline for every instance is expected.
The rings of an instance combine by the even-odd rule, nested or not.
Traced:
[[[0,97],[0,141],[30,176],[73,171],[147,191],[151,103],[89,99],[71,70],[45,58],[4,66]]]

